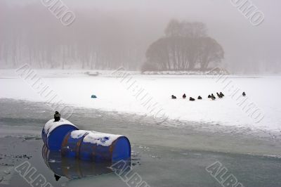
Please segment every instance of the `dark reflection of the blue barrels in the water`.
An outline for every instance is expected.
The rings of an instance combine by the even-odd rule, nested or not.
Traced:
[[[80,179],[113,172],[110,168],[112,162],[96,163],[62,157],[60,152],[48,150],[45,145],[42,148],[42,157],[47,167],[54,172],[56,181],[61,176],[65,176],[67,179]],[[131,167],[131,160],[127,160],[126,165]]]

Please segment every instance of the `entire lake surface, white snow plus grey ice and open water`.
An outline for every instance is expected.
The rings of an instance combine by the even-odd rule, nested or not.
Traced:
[[[206,171],[214,162],[221,162],[244,186],[280,186],[281,77],[228,77],[263,111],[263,119],[256,123],[228,96],[228,90],[223,89],[225,84],[214,75],[131,72],[129,78],[123,79],[112,72],[89,77],[78,70],[37,70],[37,75],[65,105],[73,107],[69,120],[77,127],[127,136],[131,142],[132,171],[150,186],[221,186]],[[147,98],[141,101],[128,89],[131,82],[145,90],[147,98],[157,103],[169,120],[159,123],[162,120],[155,119],[143,105]],[[31,165],[53,186],[126,186],[116,174],[103,173],[104,168],[89,171],[81,163],[45,161],[49,167],[65,171],[59,181],[55,180],[56,171],[49,169],[42,157],[40,139],[41,129],[54,111],[32,84],[29,79],[18,77],[15,70],[0,71],[1,183],[29,186],[15,172],[5,173],[27,160],[22,156],[27,155]],[[209,93],[218,91],[226,97],[216,101],[207,98]],[[203,99],[184,100],[183,93]],[[93,94],[98,98],[91,98]],[[171,100],[172,94],[178,99]],[[80,178],[81,172],[89,176],[71,179]]]

